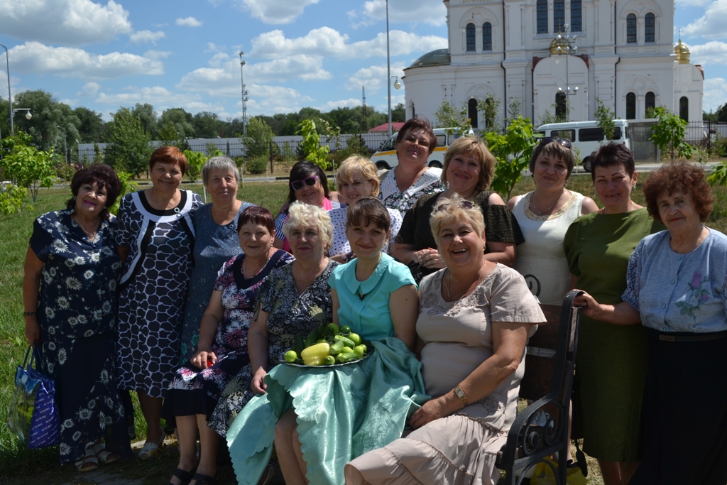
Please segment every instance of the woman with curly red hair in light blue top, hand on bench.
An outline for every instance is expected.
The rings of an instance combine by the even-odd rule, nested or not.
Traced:
[[[704,170],[664,165],[643,185],[646,207],[667,226],[631,254],[623,302],[590,294],[585,315],[648,329],[646,454],[630,484],[727,482],[727,236],[712,212]]]

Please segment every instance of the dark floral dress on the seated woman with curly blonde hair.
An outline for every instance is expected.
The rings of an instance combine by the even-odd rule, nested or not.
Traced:
[[[337,262],[328,266],[313,284],[298,294],[293,279],[293,265],[273,270],[257,294],[260,309],[268,316],[268,369],[283,361],[283,354],[294,344],[295,334],[308,334],[320,324],[333,321],[331,287],[328,280]],[[252,399],[249,364],[230,380],[209,418],[209,427],[220,436],[227,434],[230,424],[243,406]]]

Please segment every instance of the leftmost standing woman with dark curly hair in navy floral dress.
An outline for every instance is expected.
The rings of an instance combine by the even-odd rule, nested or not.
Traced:
[[[121,258],[107,210],[121,182],[97,164],[76,172],[71,192],[67,209],[33,225],[23,278],[25,337],[40,345],[41,364],[55,380],[60,462],[90,471],[131,454],[114,358]]]

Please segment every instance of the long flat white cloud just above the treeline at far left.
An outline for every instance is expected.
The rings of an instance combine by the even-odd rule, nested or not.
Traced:
[[[164,74],[161,61],[135,54],[97,55],[73,47],[26,42],[10,49],[12,67],[20,73],[55,74],[81,79],[113,79],[138,74]]]

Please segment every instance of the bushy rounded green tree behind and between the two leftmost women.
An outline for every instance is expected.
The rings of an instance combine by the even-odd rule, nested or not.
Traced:
[[[115,169],[125,169],[136,176],[148,167],[151,148],[149,135],[141,126],[138,116],[129,108],[119,108],[108,127],[105,163]]]

